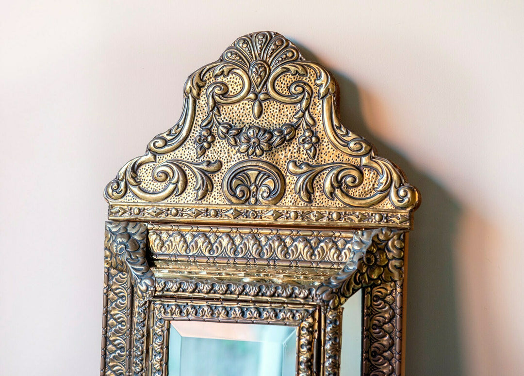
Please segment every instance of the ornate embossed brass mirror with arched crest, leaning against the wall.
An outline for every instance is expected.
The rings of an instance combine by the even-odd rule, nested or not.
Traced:
[[[102,375],[401,373],[420,197],[337,92],[269,31],[189,76],[180,120],[105,189]]]

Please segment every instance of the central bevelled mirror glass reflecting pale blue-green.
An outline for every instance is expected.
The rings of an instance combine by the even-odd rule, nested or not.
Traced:
[[[294,376],[297,327],[171,321],[169,376]]]

